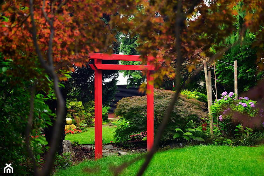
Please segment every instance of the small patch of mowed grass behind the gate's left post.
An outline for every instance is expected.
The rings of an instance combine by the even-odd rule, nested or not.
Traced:
[[[103,126],[102,135],[103,143],[110,143],[114,141],[114,131],[113,126]],[[93,144],[94,143],[94,127],[88,128],[87,131],[77,134],[67,134],[65,140],[76,141],[79,144]]]

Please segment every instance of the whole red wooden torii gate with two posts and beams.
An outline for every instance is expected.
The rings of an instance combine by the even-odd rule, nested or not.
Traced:
[[[147,57],[147,65],[116,65],[102,64],[102,60],[141,61],[138,55],[89,53],[94,64],[89,66],[94,70],[94,126],[95,126],[95,158],[102,157],[102,70],[147,70],[147,150],[150,151],[154,143],[154,80],[152,71],[153,56]],[[160,60],[161,61],[161,60]]]

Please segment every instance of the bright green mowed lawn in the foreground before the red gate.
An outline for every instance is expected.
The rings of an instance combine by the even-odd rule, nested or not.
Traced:
[[[88,160],[55,176],[112,176],[114,167],[141,155],[108,156]],[[121,176],[136,175],[143,160],[123,170]],[[86,170],[86,171],[85,171]],[[144,176],[263,176],[264,146],[192,146],[157,153]]]

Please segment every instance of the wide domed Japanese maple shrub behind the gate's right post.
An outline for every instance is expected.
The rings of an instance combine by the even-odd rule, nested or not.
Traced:
[[[174,92],[171,90],[154,90],[154,133],[156,133],[163,116],[167,111]],[[133,96],[122,98],[115,110],[116,116],[120,116],[119,124],[116,125],[114,137],[117,142],[130,139],[133,134],[147,131],[147,96]],[[206,117],[203,111],[204,103],[194,99],[187,99],[180,95],[172,111],[171,119],[165,129],[162,140],[167,141],[173,138],[176,128],[184,128],[190,120],[196,124],[200,118]]]

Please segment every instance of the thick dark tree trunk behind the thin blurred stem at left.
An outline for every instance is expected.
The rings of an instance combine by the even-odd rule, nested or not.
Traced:
[[[60,89],[62,92],[62,95],[64,97],[64,101],[66,102],[66,97],[67,97],[67,91]],[[46,104],[50,107],[52,113],[56,112],[56,108],[57,108],[57,100],[47,100]],[[58,153],[61,154],[63,152],[63,147],[62,147],[62,141],[65,139],[65,123],[66,123],[66,113],[67,113],[67,108],[65,107],[65,118],[62,121],[61,124],[61,137],[60,137],[60,143],[58,144],[57,148],[58,148]],[[55,119],[52,117],[51,118],[51,122],[54,124],[55,123]],[[51,137],[53,135],[53,126],[48,125],[46,128],[44,128],[44,134],[45,134],[45,138],[46,141],[48,142],[47,146],[50,146],[50,142],[51,142]]]

